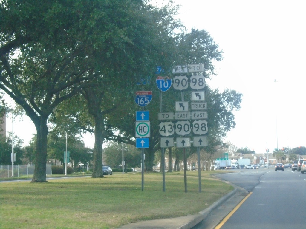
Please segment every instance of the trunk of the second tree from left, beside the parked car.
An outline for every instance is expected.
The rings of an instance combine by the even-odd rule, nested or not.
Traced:
[[[95,146],[94,146],[94,158],[93,158],[93,170],[92,178],[104,177],[103,176],[103,161],[102,161],[102,151],[103,151],[103,130],[104,122],[103,118],[95,117]]]

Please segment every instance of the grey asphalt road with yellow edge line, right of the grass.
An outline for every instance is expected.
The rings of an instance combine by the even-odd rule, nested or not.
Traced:
[[[271,169],[243,170],[238,173],[216,175],[251,192],[248,198],[222,225],[216,228],[305,228],[306,174]],[[246,193],[241,192],[246,196]],[[241,198],[242,199],[242,198]],[[213,211],[209,217],[193,229],[215,228],[238,204],[230,199]]]

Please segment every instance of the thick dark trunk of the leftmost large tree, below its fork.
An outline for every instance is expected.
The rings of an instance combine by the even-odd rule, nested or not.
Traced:
[[[47,117],[40,117],[39,122],[34,122],[37,131],[36,136],[36,155],[35,155],[35,169],[32,183],[47,182],[46,180],[46,165],[47,165],[47,136],[48,126]]]

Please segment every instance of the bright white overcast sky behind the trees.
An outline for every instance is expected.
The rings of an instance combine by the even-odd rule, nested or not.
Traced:
[[[152,0],[162,5],[163,0]],[[167,2],[167,1],[166,1]],[[243,94],[234,112],[236,127],[225,141],[256,153],[306,146],[304,1],[298,0],[174,0],[178,17],[190,31],[205,29],[223,51],[216,76],[206,83],[220,92]],[[7,118],[7,131],[12,131]],[[15,120],[14,134],[31,140],[34,124]],[[85,135],[86,147],[94,138]],[[209,143],[208,143],[209,144]]]

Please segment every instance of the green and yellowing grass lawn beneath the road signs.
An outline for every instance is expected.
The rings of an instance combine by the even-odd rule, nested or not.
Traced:
[[[116,228],[121,225],[196,214],[233,190],[210,176],[220,171],[114,173],[105,178],[79,177],[48,183],[16,181],[0,183],[0,228]]]

